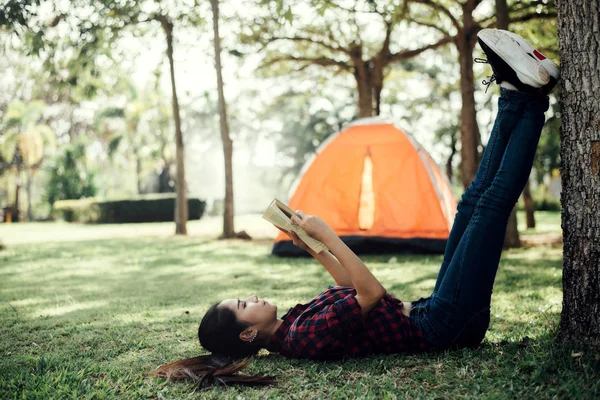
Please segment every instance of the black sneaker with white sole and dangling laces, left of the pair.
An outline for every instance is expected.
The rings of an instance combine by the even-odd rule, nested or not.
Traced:
[[[483,29],[477,34],[477,40],[494,71],[485,84],[506,81],[522,92],[539,94],[550,82],[548,70],[506,31]]]

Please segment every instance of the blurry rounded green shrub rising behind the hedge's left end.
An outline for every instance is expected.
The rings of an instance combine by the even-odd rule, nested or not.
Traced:
[[[46,198],[50,205],[58,200],[93,197],[98,189],[94,184],[94,173],[88,170],[85,156],[86,146],[77,143],[66,146],[48,168],[49,180]]]

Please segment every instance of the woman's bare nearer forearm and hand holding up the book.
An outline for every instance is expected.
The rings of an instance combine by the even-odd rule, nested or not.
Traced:
[[[361,315],[366,317],[385,295],[383,285],[321,218],[304,215],[298,211],[292,216],[292,222],[331,250],[356,288],[356,300],[360,304]]]

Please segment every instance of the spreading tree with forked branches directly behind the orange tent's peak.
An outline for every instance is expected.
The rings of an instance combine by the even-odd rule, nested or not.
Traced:
[[[412,48],[396,49],[397,43],[403,43],[396,39],[401,37],[406,3],[358,0],[348,7],[340,1],[313,0],[310,17],[303,15],[307,8],[301,2],[263,3],[269,7],[263,7],[262,15],[254,19],[252,34],[244,37],[247,43],[258,42],[263,46],[266,52],[263,67],[288,63],[297,71],[325,67],[336,73],[351,74],[361,118],[379,115],[381,92],[393,63],[450,42],[446,37],[429,41],[417,38],[416,45],[406,46]],[[282,19],[287,22],[281,23]],[[365,32],[374,24],[381,26],[381,37],[369,37]]]

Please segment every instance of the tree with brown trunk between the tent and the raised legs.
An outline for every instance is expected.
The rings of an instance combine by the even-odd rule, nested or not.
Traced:
[[[454,43],[458,50],[462,98],[460,113],[461,180],[465,188],[475,178],[479,164],[480,135],[474,97],[473,49],[477,43],[477,32],[483,28],[495,27],[498,22],[493,14],[476,17],[478,7],[484,3],[486,2],[482,0],[410,1],[409,20],[441,33],[445,39]],[[509,23],[556,16],[551,1],[548,1],[547,4],[535,0],[513,2],[507,5],[507,8]],[[504,19],[504,21],[506,20]]]

